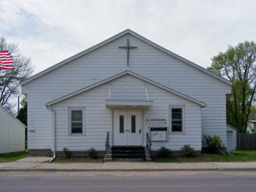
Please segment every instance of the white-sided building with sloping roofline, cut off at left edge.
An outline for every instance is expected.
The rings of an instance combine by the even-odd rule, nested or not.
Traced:
[[[0,154],[25,150],[25,128],[0,104]]]

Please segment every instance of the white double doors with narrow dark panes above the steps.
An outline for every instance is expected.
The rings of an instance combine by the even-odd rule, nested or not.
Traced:
[[[142,110],[114,110],[114,146],[142,146]]]

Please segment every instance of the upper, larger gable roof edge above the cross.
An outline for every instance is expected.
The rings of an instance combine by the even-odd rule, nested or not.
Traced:
[[[150,40],[148,40],[148,39],[146,39],[146,38],[140,36],[139,34],[133,32],[133,31],[131,31],[131,30],[129,30],[129,29],[127,29],[127,30],[125,30],[125,31],[123,31],[123,32],[121,32],[121,33],[118,33],[118,34],[116,34],[115,36],[110,37],[109,39],[104,40],[103,42],[101,42],[101,43],[99,43],[99,44],[97,44],[97,45],[95,45],[95,46],[92,46],[91,48],[86,49],[86,50],[82,51],[81,53],[79,53],[79,54],[77,54],[77,55],[74,55],[74,56],[72,56],[72,57],[69,57],[68,59],[66,59],[66,60],[64,60],[64,61],[61,61],[60,63],[57,63],[56,65],[54,65],[54,66],[52,66],[52,67],[49,67],[48,69],[45,69],[44,71],[42,71],[42,72],[40,72],[40,73],[37,73],[37,74],[33,75],[32,77],[30,77],[30,78],[28,78],[28,79],[26,79],[26,80],[20,82],[20,84],[21,84],[21,85],[25,85],[26,83],[31,82],[33,79],[36,79],[36,78],[42,76],[42,75],[45,74],[45,73],[48,73],[48,72],[50,72],[50,71],[53,71],[54,69],[56,69],[56,68],[58,68],[58,67],[60,67],[60,66],[62,66],[62,65],[65,65],[67,62],[70,62],[70,61],[72,61],[72,60],[74,60],[74,59],[77,59],[78,57],[83,56],[83,55],[85,55],[85,54],[87,54],[87,53],[89,53],[89,52],[91,52],[91,51],[93,51],[93,50],[95,50],[95,49],[97,49],[97,48],[100,48],[101,46],[106,45],[106,44],[112,42],[113,40],[118,39],[118,38],[124,36],[125,34],[131,34],[132,36],[134,36],[134,37],[136,37],[136,38],[142,40],[143,42],[146,42],[146,43],[148,43],[148,44],[154,46],[155,48],[157,48],[157,49],[159,49],[159,50],[161,50],[161,51],[164,51],[165,53],[167,53],[167,54],[169,54],[169,55],[171,55],[171,56],[173,56],[173,57],[176,57],[177,59],[179,59],[179,60],[181,60],[181,61],[183,61],[183,62],[185,62],[185,63],[188,63],[189,65],[191,65],[191,66],[193,66],[193,67],[195,67],[195,68],[197,68],[197,69],[199,69],[199,70],[201,70],[201,71],[203,71],[203,72],[205,72],[205,73],[207,73],[207,74],[210,74],[211,76],[213,76],[213,77],[215,77],[215,78],[217,78],[217,79],[219,79],[219,80],[222,80],[223,82],[225,82],[225,83],[227,83],[227,84],[229,84],[229,85],[232,85],[232,82],[230,82],[229,80],[227,80],[227,79],[225,79],[225,78],[223,78],[223,77],[220,77],[219,75],[217,75],[217,74],[215,74],[215,73],[212,73],[211,71],[208,71],[207,69],[205,69],[205,68],[203,68],[203,67],[201,67],[201,66],[199,66],[199,65],[196,65],[195,63],[193,63],[193,62],[191,62],[191,61],[189,61],[189,60],[187,60],[187,59],[184,59],[183,57],[181,57],[181,56],[179,56],[179,55],[177,55],[177,54],[174,54],[174,53],[172,53],[171,51],[169,51],[169,50],[167,50],[167,49],[165,49],[165,48],[162,48],[162,47],[159,46],[158,44],[153,43],[152,41],[150,41]]]

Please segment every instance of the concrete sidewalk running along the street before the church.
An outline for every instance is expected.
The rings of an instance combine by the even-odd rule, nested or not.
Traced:
[[[46,157],[27,157],[0,164],[7,171],[256,171],[256,162],[103,162],[55,163]]]

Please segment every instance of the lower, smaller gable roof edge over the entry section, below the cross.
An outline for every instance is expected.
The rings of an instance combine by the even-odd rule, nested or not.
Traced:
[[[124,72],[122,72],[122,73],[119,73],[119,74],[117,74],[117,75],[114,75],[113,77],[110,77],[110,78],[107,78],[107,79],[105,79],[105,80],[102,80],[101,82],[95,83],[95,84],[90,85],[90,86],[88,86],[88,87],[86,87],[86,88],[83,88],[83,89],[80,89],[80,90],[78,90],[78,91],[75,91],[75,92],[73,92],[72,94],[68,94],[68,95],[63,96],[63,97],[60,97],[60,98],[58,98],[58,99],[56,99],[56,100],[54,100],[54,101],[48,102],[48,103],[46,103],[46,105],[47,105],[47,106],[50,106],[51,104],[55,104],[55,103],[57,103],[57,102],[66,100],[67,98],[70,98],[70,97],[73,97],[73,96],[75,96],[75,95],[78,95],[78,94],[80,94],[80,93],[82,93],[82,92],[84,92],[84,91],[88,91],[88,90],[90,90],[90,89],[96,88],[96,86],[100,86],[100,85],[102,85],[102,84],[104,84],[104,83],[108,83],[108,82],[110,82],[110,81],[112,81],[112,80],[114,80],[114,79],[117,79],[117,78],[119,78],[119,77],[125,75],[125,74],[130,74],[130,75],[132,75],[133,77],[136,77],[136,78],[138,78],[138,79],[143,80],[144,82],[153,84],[153,85],[157,86],[158,88],[164,89],[164,90],[166,90],[166,91],[168,91],[168,92],[171,92],[172,94],[175,94],[175,95],[177,95],[177,96],[180,96],[180,97],[182,97],[182,98],[185,98],[186,100],[189,100],[189,101],[191,101],[191,102],[194,102],[194,103],[196,103],[196,104],[199,104],[201,107],[206,107],[206,106],[207,106],[207,104],[205,104],[205,103],[203,103],[203,102],[201,102],[201,101],[197,101],[197,100],[195,100],[194,98],[191,98],[191,97],[189,97],[189,96],[187,96],[187,95],[183,95],[183,94],[181,94],[180,92],[174,91],[174,90],[172,90],[172,89],[170,89],[170,88],[167,88],[167,87],[164,86],[164,85],[161,85],[161,84],[159,84],[159,83],[153,82],[153,80],[150,80],[150,79],[147,79],[147,78],[145,78],[145,77],[142,77],[141,75],[138,75],[138,74],[133,73],[133,72],[131,72],[131,71],[124,71]]]

